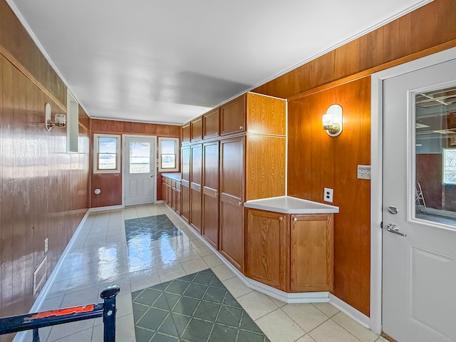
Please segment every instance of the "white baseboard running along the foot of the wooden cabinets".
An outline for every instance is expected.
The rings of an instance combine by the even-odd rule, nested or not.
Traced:
[[[189,229],[192,230],[193,228],[190,226],[190,224],[185,221],[180,215],[178,215],[168,204],[166,204],[166,207],[170,209],[170,212],[175,215],[180,221],[185,224]],[[284,301],[285,303],[327,303],[329,301],[329,292],[299,292],[299,293],[293,293],[289,294],[287,292],[281,291],[279,289],[275,289],[272,286],[260,283],[259,281],[256,281],[254,279],[250,279],[247,276],[244,276],[236,267],[234,267],[227,259],[225,259],[222,254],[217,251],[217,249],[214,249],[209,242],[207,242],[201,235],[196,234],[195,236],[198,237],[204,244],[207,245],[210,249],[212,249],[212,252],[217,255],[217,257],[220,258],[220,260],[223,261],[225,265],[234,273],[236,276],[246,285],[249,286],[250,289],[257,290],[261,292],[262,294],[266,294],[268,296],[274,297],[275,299],[279,299],[281,301]]]

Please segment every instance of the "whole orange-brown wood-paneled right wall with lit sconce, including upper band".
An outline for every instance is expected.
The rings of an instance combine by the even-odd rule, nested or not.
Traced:
[[[334,294],[367,316],[370,182],[356,179],[356,165],[371,163],[368,76],[456,46],[455,18],[456,0],[432,1],[252,90],[289,99],[288,193],[322,202],[323,187],[334,189]],[[333,103],[343,133],[329,138],[321,115]]]

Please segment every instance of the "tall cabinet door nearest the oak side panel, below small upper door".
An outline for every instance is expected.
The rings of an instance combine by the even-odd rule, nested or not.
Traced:
[[[244,144],[245,138],[220,142],[219,251],[244,271]]]

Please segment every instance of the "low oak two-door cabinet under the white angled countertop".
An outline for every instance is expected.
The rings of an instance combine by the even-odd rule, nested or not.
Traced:
[[[247,209],[246,275],[286,292],[333,291],[333,214]]]

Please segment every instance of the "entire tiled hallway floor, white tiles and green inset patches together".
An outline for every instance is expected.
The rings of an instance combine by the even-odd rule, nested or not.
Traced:
[[[385,341],[331,304],[285,304],[249,289],[164,204],[90,214],[40,311],[100,302],[114,284],[120,342]],[[39,333],[42,342],[103,341],[103,323]]]

